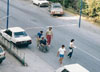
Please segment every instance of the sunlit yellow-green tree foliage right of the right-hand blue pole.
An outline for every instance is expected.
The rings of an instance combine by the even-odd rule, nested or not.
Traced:
[[[83,13],[90,17],[96,17],[100,12],[100,0],[84,0],[87,4]]]

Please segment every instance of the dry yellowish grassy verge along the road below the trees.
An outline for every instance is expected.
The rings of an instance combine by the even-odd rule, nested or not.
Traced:
[[[79,13],[76,12],[76,11],[75,11],[74,9],[72,9],[72,8],[65,8],[65,12],[70,13],[70,14],[72,14],[72,15],[78,15],[78,16],[79,16]],[[95,18],[88,17],[88,16],[82,14],[82,19],[84,19],[84,20],[86,20],[86,21],[89,21],[89,22],[91,22],[92,24],[95,24],[95,25],[97,25],[97,26],[100,27],[100,18],[98,18],[98,20],[96,20]],[[96,21],[95,21],[95,20],[96,20]]]

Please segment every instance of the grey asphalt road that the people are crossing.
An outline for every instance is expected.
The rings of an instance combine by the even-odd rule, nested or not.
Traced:
[[[77,16],[65,14],[63,17],[52,17],[48,8],[39,8],[31,1],[10,1],[9,27],[20,26],[32,37],[33,43],[27,49],[34,52],[42,60],[47,62],[54,69],[59,68],[57,50],[65,44],[68,51],[69,42],[75,39],[72,59],[67,55],[64,65],[79,63],[90,72],[99,72],[100,68],[100,28],[82,20],[81,28],[78,28]],[[0,27],[6,28],[6,0],[0,0]],[[36,48],[36,33],[40,30],[44,34],[48,26],[53,27],[53,40],[48,53],[42,53]],[[24,51],[24,48],[21,49]]]

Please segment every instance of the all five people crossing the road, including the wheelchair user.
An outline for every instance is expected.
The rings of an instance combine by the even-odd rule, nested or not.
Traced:
[[[37,33],[37,47],[39,47],[39,45],[41,45],[44,48],[46,48],[46,50],[47,50],[47,46],[50,47],[51,39],[53,38],[52,27],[49,27],[49,29],[46,31],[45,35],[46,35],[46,39],[44,38],[43,31],[40,31],[39,33]],[[75,48],[74,41],[75,41],[74,39],[71,39],[71,41],[70,41],[69,53],[67,54],[67,56],[69,58],[72,57],[73,48]],[[66,54],[66,48],[65,48],[65,45],[62,45],[61,48],[59,48],[59,50],[57,52],[57,56],[60,57],[59,63],[61,65],[62,65],[62,61],[64,59],[65,54]]]

